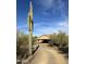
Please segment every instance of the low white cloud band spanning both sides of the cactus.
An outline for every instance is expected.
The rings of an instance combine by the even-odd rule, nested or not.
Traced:
[[[17,26],[17,29],[24,30],[25,34],[28,34],[27,25]],[[45,26],[45,23],[35,23],[34,24],[34,35],[47,35],[47,34],[53,34],[59,30],[65,31],[69,34],[69,22],[67,20],[61,21],[61,22],[52,22]]]

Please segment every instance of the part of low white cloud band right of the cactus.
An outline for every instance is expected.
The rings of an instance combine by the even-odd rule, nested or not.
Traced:
[[[69,34],[69,23],[67,20],[66,21],[62,21],[62,22],[53,22],[51,24],[49,24],[50,26],[45,26],[41,24],[36,24],[35,27],[36,29],[34,30],[35,35],[47,35],[47,34],[58,34],[59,30],[65,31],[66,34]]]

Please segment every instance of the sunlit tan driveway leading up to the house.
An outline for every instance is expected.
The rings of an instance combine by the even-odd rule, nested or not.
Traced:
[[[48,43],[41,43],[30,64],[67,64],[67,62],[54,48],[49,47]]]

